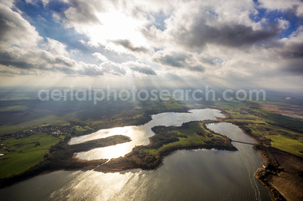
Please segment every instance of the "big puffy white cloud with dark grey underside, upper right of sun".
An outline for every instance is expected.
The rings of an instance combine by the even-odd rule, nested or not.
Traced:
[[[207,4],[208,3],[208,4]],[[177,10],[173,15],[165,20],[167,29],[157,30],[155,27],[145,29],[143,34],[146,37],[159,39],[163,43],[165,40],[171,40],[175,46],[182,45],[188,49],[203,49],[207,44],[217,44],[219,46],[241,47],[258,44],[264,40],[271,40],[285,29],[286,21],[280,19],[279,23],[263,21],[254,22],[250,19],[253,14],[253,5],[251,2],[248,9],[252,11],[243,11],[247,7],[235,2],[228,2],[230,5],[209,4],[207,1],[189,2],[185,4],[184,9]],[[227,6],[227,8],[222,8]],[[188,12],[188,10],[190,12]],[[232,13],[234,12],[234,13]]]

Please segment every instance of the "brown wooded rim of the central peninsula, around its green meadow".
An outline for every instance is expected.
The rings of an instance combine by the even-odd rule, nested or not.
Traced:
[[[203,144],[177,144],[174,146],[166,147],[164,149],[159,148],[162,147],[162,145],[159,146],[158,139],[164,135],[163,133],[173,131],[175,129],[180,129],[180,128],[187,128],[187,126],[191,123],[196,123],[199,122],[203,124],[204,130],[206,130],[209,133],[213,133],[215,135],[221,136],[220,138],[212,138],[213,142],[208,144],[203,143]],[[207,123],[215,123],[218,122],[216,120],[202,120],[202,121],[190,121],[187,123],[183,123],[181,126],[155,126],[152,128],[153,132],[155,132],[154,136],[151,136],[149,138],[149,144],[148,145],[141,145],[133,148],[132,152],[129,152],[123,157],[119,158],[114,158],[111,159],[108,163],[104,165],[100,165],[97,169],[99,170],[106,170],[106,171],[113,171],[113,170],[127,170],[127,169],[134,169],[134,168],[141,168],[142,170],[149,170],[149,169],[156,169],[160,164],[163,162],[163,158],[171,152],[178,151],[178,150],[186,150],[186,149],[218,149],[218,150],[228,150],[228,151],[237,151],[238,149],[232,145],[231,140],[227,136],[223,136],[219,133],[215,133],[208,129],[205,124]],[[205,131],[204,131],[205,132]],[[162,134],[161,134],[162,133]],[[154,141],[154,139],[156,141]],[[179,139],[167,142],[167,144],[171,142],[176,142],[179,141]],[[215,143],[214,143],[215,142]],[[217,143],[217,144],[216,144]],[[160,143],[161,144],[161,143]],[[164,144],[164,143],[163,143]],[[148,152],[145,151],[145,149],[155,149],[158,150],[157,153],[150,155]],[[147,158],[146,158],[147,157]]]

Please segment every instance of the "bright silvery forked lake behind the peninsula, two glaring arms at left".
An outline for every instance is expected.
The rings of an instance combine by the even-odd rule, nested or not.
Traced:
[[[189,112],[190,113],[168,112],[155,114],[151,116],[152,120],[144,125],[102,129],[89,135],[74,137],[71,139],[69,144],[78,144],[113,135],[125,135],[130,137],[132,139],[131,142],[102,148],[94,148],[90,151],[77,153],[77,158],[84,160],[118,158],[131,152],[135,145],[148,145],[148,138],[155,134],[151,131],[151,128],[154,126],[181,126],[184,122],[207,119],[215,120],[215,116],[224,117],[224,115],[220,113],[220,110],[215,109],[189,110]]]

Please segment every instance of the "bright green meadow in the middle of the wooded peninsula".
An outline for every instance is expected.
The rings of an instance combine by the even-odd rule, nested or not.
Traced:
[[[210,133],[207,129],[203,127],[203,123],[201,122],[192,122],[189,123],[189,127],[186,129],[175,129],[172,130],[172,132],[178,132],[180,135],[186,135],[187,138],[179,137],[179,141],[172,142],[163,145],[162,147],[158,149],[144,149],[144,151],[148,152],[148,154],[152,155],[158,155],[159,152],[164,151],[167,148],[171,147],[180,147],[181,146],[195,146],[195,145],[205,145],[205,142],[203,140],[205,139],[211,139],[210,137],[207,137],[207,134]],[[201,131],[203,135],[198,135],[197,131]],[[222,136],[212,134],[213,137],[219,137],[223,138]]]

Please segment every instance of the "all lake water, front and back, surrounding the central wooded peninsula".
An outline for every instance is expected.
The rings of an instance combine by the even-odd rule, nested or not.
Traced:
[[[87,159],[105,156],[115,158],[125,155],[133,145],[147,144],[146,139],[153,135],[150,130],[153,125],[179,126],[192,120],[223,117],[219,110],[213,109],[190,112],[153,115],[152,120],[145,125],[121,127],[117,130],[103,129],[73,138],[70,143],[115,134],[133,135],[130,137],[135,144],[132,141],[121,147],[97,148],[97,151],[85,152],[80,157],[79,153],[77,155]],[[230,123],[211,123],[207,127],[233,140],[254,142]],[[150,171],[55,171],[1,189],[0,194],[3,199],[14,200],[270,200],[268,191],[253,176],[263,161],[260,153],[252,145],[239,142],[233,144],[239,151],[175,151],[164,158],[160,167]],[[112,150],[115,153],[110,153]]]

